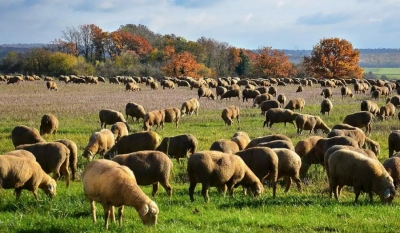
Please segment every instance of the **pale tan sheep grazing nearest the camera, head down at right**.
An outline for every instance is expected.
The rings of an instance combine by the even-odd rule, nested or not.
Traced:
[[[89,200],[92,219],[96,223],[96,207],[99,202],[104,208],[104,227],[108,229],[108,219],[113,218],[113,207],[119,207],[119,224],[122,224],[124,205],[133,206],[143,224],[155,225],[158,207],[137,185],[133,172],[126,166],[104,159],[88,164],[82,176],[83,192]]]

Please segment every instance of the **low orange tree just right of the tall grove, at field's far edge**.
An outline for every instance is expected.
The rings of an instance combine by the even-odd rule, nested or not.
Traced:
[[[172,59],[162,67],[162,70],[170,76],[190,76],[199,77],[201,65],[197,63],[196,58],[189,52],[175,54]]]

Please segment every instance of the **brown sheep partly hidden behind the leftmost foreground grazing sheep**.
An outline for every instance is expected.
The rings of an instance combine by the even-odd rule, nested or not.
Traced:
[[[53,178],[58,180],[60,173],[65,177],[67,187],[69,187],[69,155],[70,151],[60,142],[39,142],[35,144],[24,144],[17,146],[16,149],[31,152],[36,161],[40,164],[43,171],[53,173]]]

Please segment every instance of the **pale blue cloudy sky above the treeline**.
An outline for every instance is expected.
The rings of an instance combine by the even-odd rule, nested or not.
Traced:
[[[0,0],[0,44],[49,43],[68,27],[159,34],[231,46],[311,50],[338,37],[354,48],[400,48],[400,0]]]

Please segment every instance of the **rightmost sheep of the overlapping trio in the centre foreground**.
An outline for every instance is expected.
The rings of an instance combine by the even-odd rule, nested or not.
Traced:
[[[285,193],[289,191],[292,179],[296,182],[297,189],[301,191],[300,168],[301,158],[296,152],[288,149],[273,149],[278,156],[278,180],[285,178]]]

